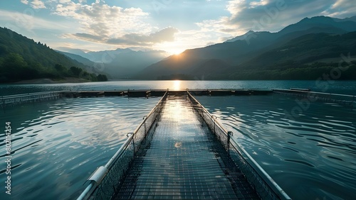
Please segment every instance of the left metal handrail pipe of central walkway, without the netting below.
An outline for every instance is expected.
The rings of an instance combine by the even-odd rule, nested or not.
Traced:
[[[90,196],[93,194],[95,189],[98,188],[101,180],[103,180],[103,178],[112,169],[112,167],[114,166],[115,162],[122,156],[122,154],[125,152],[125,150],[127,150],[127,148],[130,145],[130,143],[133,142],[134,137],[139,132],[140,128],[142,128],[142,126],[145,126],[145,122],[147,121],[147,119],[150,118],[150,116],[152,116],[155,113],[155,111],[157,110],[157,108],[159,108],[159,106],[162,104],[162,102],[165,101],[165,99],[167,99],[167,94],[168,94],[168,91],[166,91],[164,96],[162,96],[162,98],[159,99],[158,103],[150,111],[150,113],[147,115],[147,117],[145,117],[143,119],[143,121],[140,123],[140,125],[137,126],[135,131],[132,134],[130,134],[130,136],[128,136],[129,138],[127,138],[127,140],[120,147],[120,149],[117,150],[117,152],[115,152],[115,155],[113,155],[110,158],[110,160],[106,163],[106,165],[102,166],[101,168],[98,167],[98,169],[95,170],[95,172],[93,172],[92,175],[90,175],[90,177],[87,179],[87,181],[85,181],[85,182],[90,181],[90,184],[88,185],[88,187],[85,188],[85,190],[80,194],[80,196],[78,196],[77,200],[89,199],[90,198]],[[100,171],[98,171],[98,170],[100,170]],[[94,177],[94,178],[92,178],[92,177]]]

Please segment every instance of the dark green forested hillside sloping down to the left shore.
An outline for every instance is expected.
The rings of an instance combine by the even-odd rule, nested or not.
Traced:
[[[0,82],[65,77],[107,80],[105,74],[96,74],[91,67],[69,59],[46,44],[36,43],[8,28],[0,28]]]

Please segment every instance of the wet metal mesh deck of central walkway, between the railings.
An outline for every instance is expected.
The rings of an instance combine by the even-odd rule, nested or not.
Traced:
[[[169,96],[116,199],[259,199],[187,96]]]

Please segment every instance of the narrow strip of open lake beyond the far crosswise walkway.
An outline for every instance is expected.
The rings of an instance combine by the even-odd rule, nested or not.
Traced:
[[[80,84],[0,84],[0,96],[36,91],[127,89],[290,89],[356,95],[356,81],[115,81]]]

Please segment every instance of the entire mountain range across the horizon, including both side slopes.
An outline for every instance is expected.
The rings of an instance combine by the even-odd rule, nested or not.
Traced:
[[[345,65],[347,73],[337,79],[356,79],[355,55],[356,16],[303,18],[276,33],[250,30],[168,57],[160,50],[128,48],[52,50],[0,28],[0,82],[78,76],[105,80],[103,74],[111,79],[318,79]]]

